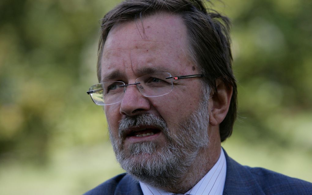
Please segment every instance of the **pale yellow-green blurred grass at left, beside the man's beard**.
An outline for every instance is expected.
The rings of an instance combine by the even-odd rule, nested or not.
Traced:
[[[0,165],[0,194],[82,194],[123,172],[110,143],[63,149],[51,162],[36,166],[9,161]]]

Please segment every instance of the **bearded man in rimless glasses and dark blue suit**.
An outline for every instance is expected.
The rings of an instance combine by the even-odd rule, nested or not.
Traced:
[[[229,25],[193,0],[128,0],[105,15],[87,93],[127,173],[86,194],[312,194],[221,148],[236,118]]]

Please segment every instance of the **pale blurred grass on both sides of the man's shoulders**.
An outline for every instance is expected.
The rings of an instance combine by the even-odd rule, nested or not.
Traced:
[[[223,147],[241,164],[265,167],[312,182],[309,151],[248,144],[236,136],[227,140]],[[45,167],[14,161],[2,163],[1,194],[82,194],[124,172],[116,162],[109,142],[63,149],[51,156],[51,162]]]

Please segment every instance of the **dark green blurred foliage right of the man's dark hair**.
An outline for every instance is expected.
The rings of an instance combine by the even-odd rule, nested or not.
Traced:
[[[301,130],[311,143],[311,126],[306,129],[310,121],[300,124],[298,119],[312,116],[312,2],[254,0],[247,4],[248,9],[233,18],[239,115],[247,117],[243,119],[246,129],[239,135],[251,143],[259,138],[285,146],[293,144]],[[296,127],[285,127],[289,120]],[[302,143],[296,144],[311,148]]]

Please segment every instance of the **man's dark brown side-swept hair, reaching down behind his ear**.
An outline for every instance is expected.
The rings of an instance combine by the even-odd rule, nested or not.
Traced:
[[[207,1],[209,2],[209,1]],[[219,12],[206,8],[202,0],[125,0],[101,20],[98,47],[97,76],[101,77],[101,58],[110,29],[116,23],[136,21],[156,13],[171,13],[183,19],[187,27],[190,55],[204,73],[204,80],[217,93],[216,79],[233,88],[230,107],[220,124],[221,141],[233,130],[237,110],[237,87],[232,71],[230,20]]]

